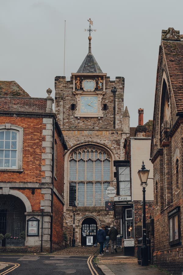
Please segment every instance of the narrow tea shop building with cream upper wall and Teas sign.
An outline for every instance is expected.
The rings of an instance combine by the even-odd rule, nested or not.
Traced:
[[[126,193],[117,193],[119,196],[115,201],[115,217],[121,219],[121,227],[123,228],[123,247],[124,255],[137,255],[137,240],[142,237],[142,187],[138,177],[138,170],[141,169],[142,161],[145,167],[150,170],[148,186],[146,187],[146,221],[149,216],[153,218],[153,166],[150,158],[152,120],[143,124],[143,109],[138,109],[138,126],[130,127],[130,135],[124,141],[125,161],[115,161],[117,167],[117,184],[121,184],[123,174],[127,174],[129,169],[129,187],[127,190],[127,182],[125,185]],[[128,167],[129,166],[129,167]],[[119,170],[120,169],[120,170]],[[124,171],[123,171],[124,170]],[[127,179],[127,178],[126,178]],[[119,190],[120,191],[120,190]],[[124,196],[126,195],[126,197]],[[126,198],[130,196],[130,200]],[[148,238],[153,236],[149,232],[147,226]]]

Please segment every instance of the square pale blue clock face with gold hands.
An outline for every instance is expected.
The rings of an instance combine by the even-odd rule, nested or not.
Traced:
[[[97,113],[97,97],[81,97],[81,113]]]

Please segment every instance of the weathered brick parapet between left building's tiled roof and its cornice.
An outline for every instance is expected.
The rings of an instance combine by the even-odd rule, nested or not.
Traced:
[[[46,98],[1,97],[0,110],[23,112],[46,112]]]

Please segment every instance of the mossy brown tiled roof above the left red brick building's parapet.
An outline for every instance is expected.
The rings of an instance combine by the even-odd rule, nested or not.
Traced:
[[[0,96],[30,97],[16,81],[0,81]]]

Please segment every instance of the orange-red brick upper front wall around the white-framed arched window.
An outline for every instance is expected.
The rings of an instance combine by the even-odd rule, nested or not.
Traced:
[[[42,118],[26,117],[6,117],[1,116],[1,124],[11,123],[23,127],[23,173],[1,172],[1,182],[41,182],[45,172],[41,171],[41,166],[45,165],[42,160]]]

